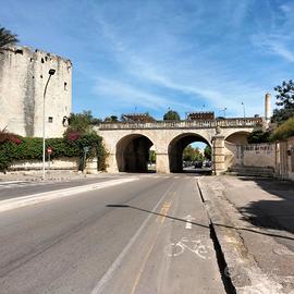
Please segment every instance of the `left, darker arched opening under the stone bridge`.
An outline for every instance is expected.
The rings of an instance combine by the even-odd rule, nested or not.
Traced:
[[[156,170],[154,143],[146,136],[133,134],[117,145],[117,162],[120,172],[148,172]]]

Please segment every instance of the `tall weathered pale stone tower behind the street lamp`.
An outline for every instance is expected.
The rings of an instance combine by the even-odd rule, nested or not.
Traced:
[[[46,137],[62,136],[72,110],[72,63],[27,47],[0,51],[1,130],[42,136],[42,97],[50,69],[56,73],[46,95]]]

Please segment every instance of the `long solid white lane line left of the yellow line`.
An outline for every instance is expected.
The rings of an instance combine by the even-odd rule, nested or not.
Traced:
[[[156,204],[151,212],[156,212],[159,205],[163,201],[170,189],[173,187],[174,183],[171,184],[171,186],[167,189],[167,192],[162,195],[162,197],[159,199],[159,201]],[[120,268],[124,257],[130,252],[131,247],[134,245],[138,236],[140,235],[142,231],[147,225],[147,222],[150,220],[150,218],[154,217],[152,213],[149,213],[149,216],[145,219],[145,221],[142,223],[139,229],[136,231],[136,233],[133,235],[133,237],[130,240],[130,242],[126,244],[124,249],[120,253],[120,255],[117,257],[117,259],[113,261],[113,264],[110,266],[108,271],[103,274],[103,277],[100,279],[100,281],[97,283],[97,285],[94,287],[90,294],[101,294],[103,293],[103,289],[106,284],[111,280],[114,271]]]

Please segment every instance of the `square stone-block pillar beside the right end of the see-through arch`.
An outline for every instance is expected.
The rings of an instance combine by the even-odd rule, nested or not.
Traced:
[[[216,175],[225,171],[224,164],[224,136],[216,135],[212,138],[213,173]]]

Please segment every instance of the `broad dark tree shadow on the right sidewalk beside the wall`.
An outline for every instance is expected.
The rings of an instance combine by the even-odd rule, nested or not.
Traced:
[[[275,179],[240,177],[254,181],[262,191],[279,197],[252,201],[240,209],[244,220],[256,226],[294,233],[294,182]]]

